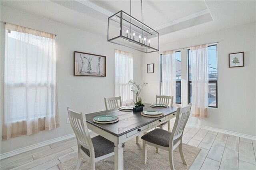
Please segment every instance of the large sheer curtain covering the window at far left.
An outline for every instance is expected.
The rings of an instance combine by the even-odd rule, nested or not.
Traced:
[[[55,36],[6,23],[2,139],[59,127]]]

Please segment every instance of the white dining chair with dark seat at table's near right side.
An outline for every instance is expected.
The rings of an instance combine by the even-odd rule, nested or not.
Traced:
[[[180,157],[182,159],[183,164],[186,165],[186,160],[184,158],[182,150],[182,136],[186,123],[188,122],[190,110],[191,103],[186,107],[179,107],[177,109],[176,119],[172,132],[156,128],[141,137],[143,140],[142,160],[144,164],[146,164],[147,162],[147,144],[149,144],[151,146],[155,146],[156,148],[161,148],[168,151],[170,168],[172,170],[174,170],[172,152],[175,148],[179,146]]]

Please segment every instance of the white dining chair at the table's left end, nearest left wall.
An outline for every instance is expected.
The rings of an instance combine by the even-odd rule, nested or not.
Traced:
[[[84,113],[76,113],[68,107],[68,117],[78,145],[76,170],[79,170],[81,162],[85,160],[90,160],[91,168],[95,170],[95,162],[114,155],[113,142],[100,135],[90,137]]]

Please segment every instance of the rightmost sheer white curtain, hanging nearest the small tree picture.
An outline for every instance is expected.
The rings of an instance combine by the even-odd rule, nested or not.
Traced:
[[[191,113],[194,117],[208,117],[208,50],[207,44],[190,47],[191,57]]]

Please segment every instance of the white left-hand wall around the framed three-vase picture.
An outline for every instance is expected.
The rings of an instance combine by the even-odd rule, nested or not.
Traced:
[[[56,37],[56,75],[58,87],[58,103],[60,127],[50,131],[42,131],[29,136],[23,135],[1,141],[1,154],[30,146],[39,142],[73,133],[68,118],[67,107],[75,111],[92,113],[105,110],[104,97],[114,96],[115,49],[133,53],[133,77],[142,80],[142,53],[107,42],[106,37],[66,26],[51,20],[39,18],[1,5],[1,21],[57,34]],[[86,21],[84,21],[85,24]],[[107,29],[107,28],[106,28]],[[106,56],[106,77],[83,77],[73,75],[73,52],[81,51]],[[3,99],[4,71],[4,24],[1,23],[1,101]],[[3,105],[1,102],[1,118]],[[1,119],[2,121],[2,119]],[[2,129],[2,123],[1,129]],[[2,130],[0,131],[2,132]],[[1,135],[2,136],[2,135]]]

